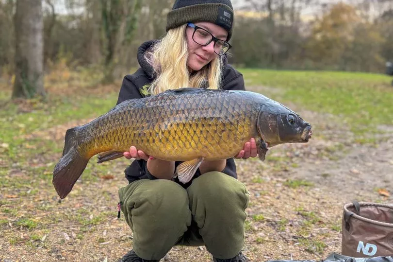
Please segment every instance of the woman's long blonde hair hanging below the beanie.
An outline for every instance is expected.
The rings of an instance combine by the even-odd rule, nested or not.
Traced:
[[[201,70],[190,75],[187,68],[188,50],[185,29],[187,25],[168,30],[162,41],[145,54],[157,77],[151,83],[152,95],[181,87],[207,87],[218,89],[221,85],[222,60],[218,56]]]

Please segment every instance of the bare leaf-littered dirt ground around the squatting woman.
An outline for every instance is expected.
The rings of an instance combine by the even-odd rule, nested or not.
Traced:
[[[383,127],[386,133],[377,145],[360,145],[336,117],[293,107],[313,125],[309,143],[273,147],[263,162],[236,160],[239,180],[250,192],[243,252],[253,262],[321,260],[332,252],[341,253],[343,205],[354,199],[392,202],[393,128]],[[55,138],[61,144],[62,136],[48,136],[48,132],[64,134],[74,125],[70,122],[32,136]],[[112,161],[106,178],[82,179],[61,202],[45,182],[39,194],[16,199],[18,214],[32,217],[38,226],[16,227],[11,220],[2,227],[0,262],[121,258],[132,248],[131,230],[123,217],[116,218],[117,190],[127,183],[126,163]],[[17,168],[10,175],[29,178]],[[10,192],[6,188],[0,194],[5,197]],[[204,246],[175,246],[162,261],[209,262],[212,257]]]

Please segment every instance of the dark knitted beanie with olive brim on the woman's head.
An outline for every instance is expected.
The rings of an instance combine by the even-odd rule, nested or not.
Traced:
[[[166,31],[188,22],[212,22],[232,36],[233,8],[230,0],[176,0],[168,13]]]

